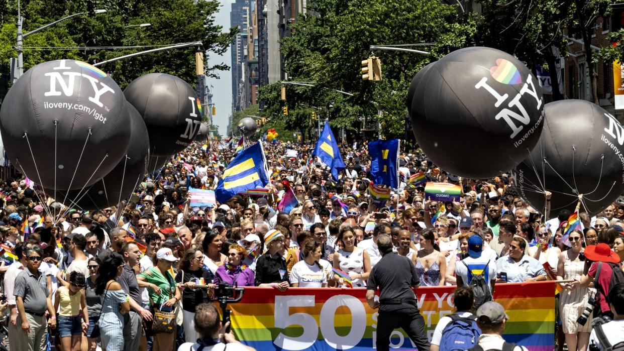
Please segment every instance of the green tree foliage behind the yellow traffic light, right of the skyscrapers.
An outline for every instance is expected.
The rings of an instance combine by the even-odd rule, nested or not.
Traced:
[[[309,6],[318,16],[292,24],[292,35],[281,41],[280,50],[290,80],[316,86],[285,85],[286,101],[281,101],[280,84],[267,85],[260,88],[260,99],[269,113],[281,113],[281,106],[288,105],[286,127],[310,138],[316,138],[316,122],[310,118],[314,107],[332,127],[351,133],[362,127],[358,117],[376,118],[381,111],[384,136],[404,135],[405,97],[414,74],[430,60],[470,44],[475,32],[474,21],[459,16],[457,5],[437,0],[318,0]],[[419,47],[431,55],[374,52],[381,58],[383,80],[361,79],[361,61],[371,45],[432,42]]]

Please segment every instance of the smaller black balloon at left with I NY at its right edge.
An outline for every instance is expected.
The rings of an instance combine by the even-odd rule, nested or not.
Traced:
[[[124,95],[143,116],[150,136],[150,155],[171,156],[195,140],[202,105],[184,80],[150,73],[133,80]]]

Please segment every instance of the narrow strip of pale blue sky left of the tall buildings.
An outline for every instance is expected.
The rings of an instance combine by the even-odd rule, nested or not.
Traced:
[[[232,0],[219,0],[221,7],[217,13],[217,24],[223,27],[223,32],[227,32],[230,28],[230,8]],[[230,49],[223,55],[215,55],[214,52],[208,52],[208,65],[225,63],[228,66],[232,63],[230,59]],[[228,127],[228,118],[232,112],[232,72],[230,70],[220,70],[215,72],[219,79],[211,78],[208,85],[212,85],[212,102],[217,107],[217,115],[213,117],[213,124],[219,128],[219,134],[225,135]]]

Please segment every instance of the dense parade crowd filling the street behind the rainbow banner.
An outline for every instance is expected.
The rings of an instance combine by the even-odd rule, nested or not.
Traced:
[[[413,293],[397,297],[386,290],[384,296],[382,289],[377,302],[370,296],[380,312],[392,304],[415,308],[409,321],[388,324],[411,329],[413,335],[406,332],[419,350],[445,349],[448,326],[472,317],[480,330],[477,346],[508,350],[501,335],[509,317],[494,301],[496,284],[547,279],[562,281],[558,350],[606,350],[605,342],[624,340],[624,286],[618,284],[624,283],[624,201],[593,217],[581,209],[583,229],[565,233],[571,212],[533,208],[508,175],[462,179],[406,144],[399,187],[376,206],[367,191],[366,142],[343,143],[346,168],[338,180],[311,156],[314,145],[274,142],[265,143],[267,195],[241,193],[192,207],[189,189],[214,190],[235,156],[223,143],[208,144],[173,156],[119,206],[95,211],[68,208],[19,174],[6,180],[1,308],[8,309],[11,349],[210,350],[220,340],[235,343],[210,303],[219,284],[374,293],[398,266],[408,267],[407,286],[457,286],[457,311],[439,321],[431,341],[419,334],[424,322],[414,317]],[[297,156],[286,156],[286,149]],[[419,172],[427,181],[460,185],[459,201],[427,198],[424,183],[409,182]],[[289,189],[299,206],[278,211]],[[556,195],[544,196],[548,203]],[[599,321],[605,324],[592,327]],[[388,349],[387,337],[377,343]],[[248,347],[228,346],[238,349]]]

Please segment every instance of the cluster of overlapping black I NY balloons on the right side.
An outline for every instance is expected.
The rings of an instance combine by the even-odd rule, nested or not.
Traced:
[[[414,136],[442,169],[470,179],[510,173],[536,209],[596,214],[624,191],[624,128],[584,100],[545,105],[535,76],[490,47],[459,49],[422,68],[407,92]]]

